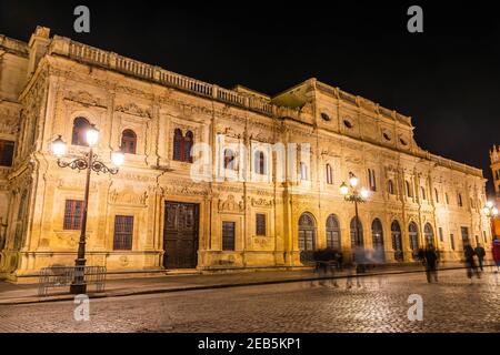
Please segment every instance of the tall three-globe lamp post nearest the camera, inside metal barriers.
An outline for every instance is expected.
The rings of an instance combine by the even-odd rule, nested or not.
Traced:
[[[86,132],[87,143],[89,144],[89,152],[82,158],[72,159],[68,162],[61,160],[67,152],[67,144],[59,135],[52,142],[52,152],[58,156],[58,165],[60,168],[71,168],[72,170],[87,171],[86,178],[86,190],[83,197],[83,211],[82,221],[80,230],[80,241],[78,243],[78,256],[74,261],[74,276],[73,282],[70,286],[71,294],[84,294],[87,292],[87,284],[84,281],[84,266],[86,266],[86,234],[87,234],[87,211],[89,206],[89,190],[90,190],[90,174],[92,171],[96,173],[110,173],[112,175],[118,173],[118,166],[123,163],[123,153],[121,150],[113,152],[111,154],[111,161],[116,165],[113,168],[108,168],[102,161],[99,160],[98,155],[93,153],[93,146],[99,141],[99,131],[92,124]]]

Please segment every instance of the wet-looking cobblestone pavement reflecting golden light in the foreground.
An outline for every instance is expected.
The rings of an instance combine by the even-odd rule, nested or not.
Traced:
[[[0,332],[500,332],[500,274],[466,271],[367,276],[351,288],[310,282],[90,301],[76,322],[72,302],[0,306]],[[408,320],[408,296],[423,321]]]

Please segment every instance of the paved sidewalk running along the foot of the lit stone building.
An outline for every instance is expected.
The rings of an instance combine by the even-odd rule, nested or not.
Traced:
[[[461,268],[462,264],[449,263],[439,270]],[[403,274],[423,272],[421,265],[381,265],[368,271],[363,275]],[[347,277],[347,272],[337,272],[336,278]],[[88,295],[91,298],[118,297],[130,295],[144,295],[153,293],[210,290],[223,287],[237,287],[249,285],[266,285],[289,283],[299,281],[319,280],[318,274],[310,268],[302,271],[257,271],[228,274],[194,274],[194,275],[164,275],[159,277],[141,277],[126,280],[110,280],[106,282],[106,291],[94,293],[93,286],[89,286]],[[17,285],[0,282],[0,305],[14,305],[39,302],[72,301],[73,295],[68,294],[68,288],[51,288],[49,295],[39,297],[37,284]]]

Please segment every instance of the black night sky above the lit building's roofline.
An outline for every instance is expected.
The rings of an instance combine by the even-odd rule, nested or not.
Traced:
[[[28,40],[42,24],[199,80],[269,94],[316,77],[411,115],[423,149],[481,168],[491,180],[488,151],[500,143],[500,14],[490,1],[433,2],[0,0],[0,33]],[[73,31],[78,4],[90,8],[88,34]],[[411,4],[423,8],[423,33],[407,31]]]

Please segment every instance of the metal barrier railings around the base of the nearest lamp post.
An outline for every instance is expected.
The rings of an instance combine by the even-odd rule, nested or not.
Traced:
[[[40,270],[38,295],[47,296],[49,288],[69,287],[77,273],[83,273],[87,285],[94,285],[96,292],[104,291],[106,266],[49,266]]]

